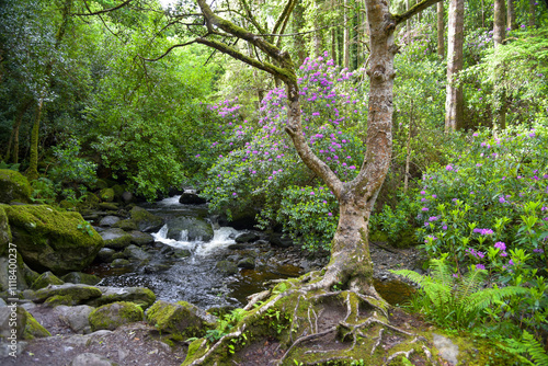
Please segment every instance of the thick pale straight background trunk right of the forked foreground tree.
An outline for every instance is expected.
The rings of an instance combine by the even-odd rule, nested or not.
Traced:
[[[445,133],[463,126],[463,87],[454,84],[456,75],[463,69],[463,34],[465,1],[450,0],[447,41],[447,94],[445,99]]]

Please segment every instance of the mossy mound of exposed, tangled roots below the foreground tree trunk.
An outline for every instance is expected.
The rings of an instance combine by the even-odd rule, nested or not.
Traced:
[[[310,273],[300,281],[287,281],[270,291],[250,296],[244,308],[249,314],[239,328],[209,347],[204,341],[196,358],[185,361],[183,365],[214,365],[216,361],[226,364],[226,357],[231,359],[227,352],[229,342],[236,344],[238,341],[235,339],[241,340],[242,335],[247,339],[258,334],[258,340],[264,339],[264,332],[269,334],[267,327],[274,327],[278,334],[270,333],[267,336],[275,336],[282,350],[287,350],[276,362],[277,365],[293,365],[294,359],[304,365],[343,359],[351,362],[363,355],[370,357],[367,362],[372,365],[387,365],[399,356],[409,357],[413,352],[424,354],[432,363],[432,353],[424,345],[426,340],[390,324],[390,307],[376,293],[332,290],[335,284],[343,287],[339,283],[340,275],[332,272],[331,276],[320,276],[320,272]],[[265,300],[272,293],[276,296],[258,307],[259,301]],[[322,350],[318,350],[320,344]],[[402,351],[408,346],[409,351]],[[236,350],[237,357],[239,350],[243,352],[241,347]],[[389,355],[388,350],[393,350],[393,353]]]

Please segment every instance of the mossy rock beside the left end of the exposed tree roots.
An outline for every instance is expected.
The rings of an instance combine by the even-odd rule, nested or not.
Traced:
[[[159,332],[190,338],[203,336],[215,327],[216,318],[185,301],[158,300],[148,309],[147,321]]]

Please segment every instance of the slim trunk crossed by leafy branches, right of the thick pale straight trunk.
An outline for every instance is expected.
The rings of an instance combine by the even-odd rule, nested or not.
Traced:
[[[499,48],[502,46],[504,38],[506,37],[506,7],[504,0],[494,0],[494,24],[493,24],[493,42],[495,53],[499,52]],[[504,66],[502,66],[504,69]],[[506,128],[506,91],[504,87],[501,88],[501,83],[504,79],[504,73],[498,76],[496,90],[500,91],[499,95],[496,95],[495,102],[495,115],[496,115],[496,125],[499,128]]]

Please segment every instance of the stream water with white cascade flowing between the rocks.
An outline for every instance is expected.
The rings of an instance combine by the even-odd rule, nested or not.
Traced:
[[[167,220],[175,217],[204,217],[207,219],[205,205],[182,205],[180,196],[142,205],[150,213]],[[215,225],[214,225],[215,227]],[[111,268],[107,265],[96,266],[92,271],[103,277],[101,285],[107,286],[145,286],[150,288],[157,299],[167,301],[184,300],[207,309],[220,306],[243,306],[246,297],[265,288],[263,282],[274,278],[286,278],[300,274],[299,268],[290,265],[266,265],[258,259],[255,270],[239,270],[237,274],[227,275],[217,270],[218,261],[230,260],[238,251],[229,249],[235,244],[233,238],[239,233],[230,227],[217,227],[214,238],[204,242],[189,241],[187,232],[181,231],[179,240],[167,238],[168,225],[153,233],[156,244],[149,250],[149,262],[128,268]],[[190,256],[167,256],[170,248],[187,250]],[[251,247],[247,251],[258,258],[269,248]],[[172,251],[171,251],[172,252]],[[262,263],[262,264],[261,264]]]

